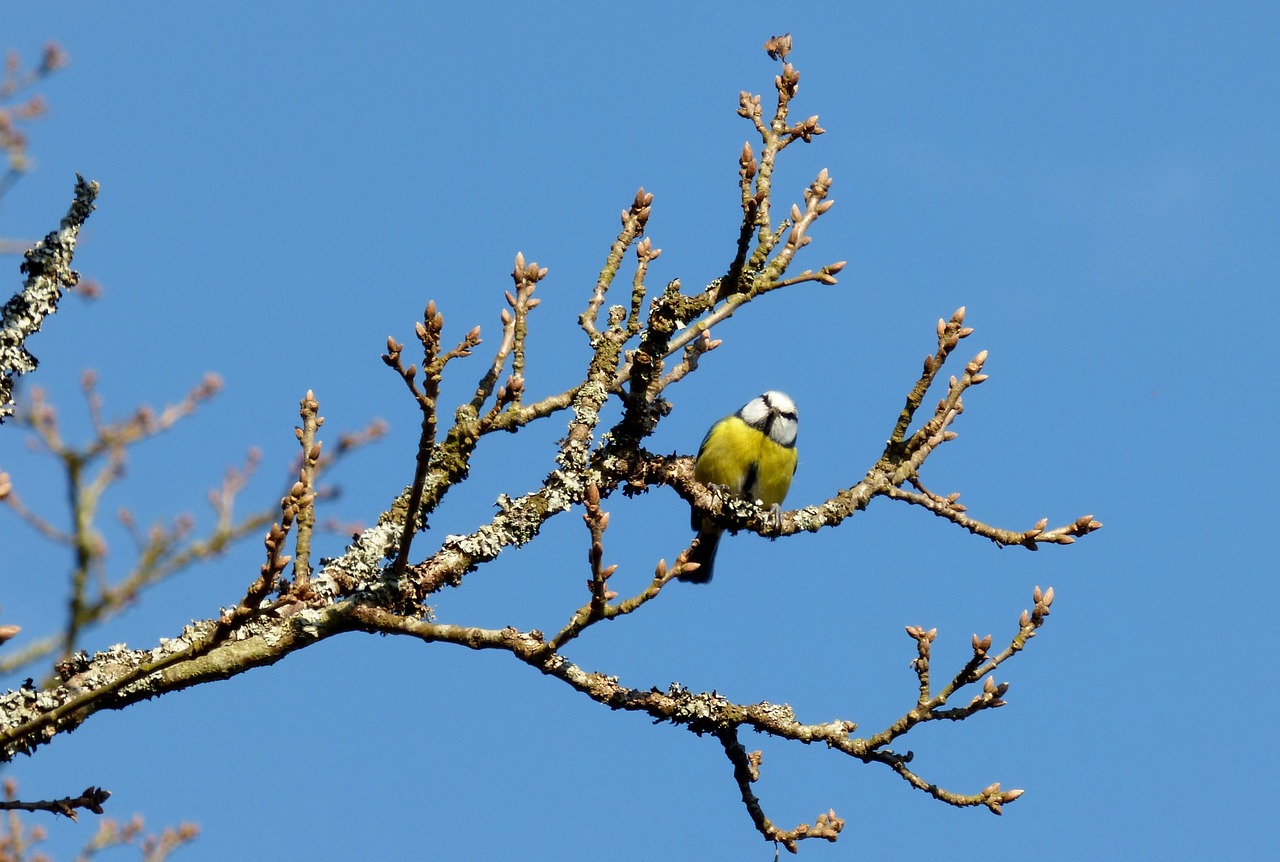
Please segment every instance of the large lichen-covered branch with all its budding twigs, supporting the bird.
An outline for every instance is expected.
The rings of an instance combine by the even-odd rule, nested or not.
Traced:
[[[765,49],[771,56],[785,61],[790,42],[777,37]],[[357,537],[340,557],[328,561],[319,571],[311,571],[310,533],[314,525],[312,505],[317,493],[315,468],[320,462],[321,447],[315,439],[320,425],[319,405],[308,392],[302,402],[303,424],[297,429],[303,451],[300,479],[280,502],[280,521],[271,525],[266,537],[266,560],[260,576],[247,588],[244,598],[218,619],[188,626],[179,637],[161,642],[155,649],[128,651],[122,647],[92,657],[70,655],[59,665],[61,684],[40,692],[24,689],[0,695],[0,758],[10,760],[19,752],[29,752],[54,735],[79,726],[101,710],[118,710],[143,698],[227,679],[251,667],[270,665],[334,634],[361,630],[413,637],[424,643],[504,651],[598,703],[614,710],[644,712],[655,721],[669,721],[696,735],[714,735],[733,767],[744,804],[756,829],[767,839],[792,852],[799,840],[805,838],[836,840],[844,821],[832,811],[819,816],[814,824],[801,824],[792,830],[774,826],[750,786],[759,779],[760,761],[758,753],[749,754],[740,744],[740,731],[744,728],[804,744],[824,743],[860,762],[888,766],[913,786],[948,804],[982,804],[1000,813],[1001,806],[1018,798],[1020,790],[1002,792],[998,784],[991,784],[975,794],[959,794],[938,788],[911,768],[911,752],[895,752],[890,745],[920,724],[960,721],[1002,706],[1007,684],[997,684],[991,674],[1024,649],[1036,635],[1050,612],[1052,589],[1043,593],[1036,590],[1033,610],[1024,611],[1016,634],[998,655],[989,655],[989,635],[974,635],[972,657],[950,675],[941,689],[936,688],[937,671],[931,667],[936,630],[908,626],[916,652],[913,665],[916,674],[914,701],[891,725],[863,738],[854,736],[858,725],[852,721],[803,724],[785,704],[735,703],[717,692],[695,693],[678,684],[667,690],[628,688],[616,676],[581,669],[563,652],[586,628],[600,620],[635,612],[657,598],[663,587],[687,565],[686,549],[676,557],[671,569],[659,562],[653,579],[641,592],[616,602],[617,593],[609,588],[608,581],[617,566],[605,564],[604,534],[609,514],[604,511],[602,500],[620,488],[632,493],[650,484],[669,484],[681,497],[690,500],[695,512],[717,517],[730,529],[750,529],[765,535],[832,526],[864,508],[877,496],[925,506],[979,534],[982,530],[998,537],[1007,533],[972,521],[957,503],[956,496],[937,497],[924,489],[919,480],[919,471],[928,456],[942,443],[955,438],[952,424],[964,411],[964,393],[987,379],[982,373],[986,361],[983,351],[966,364],[963,374],[950,379],[946,396],[932,416],[911,432],[941,368],[959,341],[972,332],[963,325],[964,309],[952,315],[950,321],[940,320],[938,348],[925,360],[924,371],[908,393],[906,406],[897,418],[890,442],[872,469],[856,484],[838,491],[822,506],[788,512],[781,525],[774,523],[776,516],[768,510],[749,501],[730,498],[718,489],[698,483],[692,476],[690,459],[657,457],[641,448],[643,441],[669,410],[669,405],[662,398],[664,387],[694,370],[700,355],[717,343],[707,330],[712,323],[727,319],[736,307],[763,292],[804,282],[832,284],[836,282],[836,273],[844,266],[844,263],[837,263],[818,272],[804,270],[785,278],[795,255],[809,243],[813,224],[832,206],[832,201],[827,199],[831,177],[823,170],[806,190],[804,206],[792,206],[787,218],[778,224],[772,223],[771,183],[778,152],[796,141],[810,141],[823,132],[817,117],[799,123],[788,120],[799,77],[790,64],[782,68],[774,82],[777,108],[769,119],[765,119],[760,109],[759,97],[742,94],[740,113],[753,122],[762,136],[763,147],[756,159],[748,146],[739,161],[744,223],[737,256],[719,284],[713,284],[713,289],[700,296],[686,296],[681,292],[680,281],[675,279],[650,298],[645,279],[649,264],[660,251],[653,247],[648,237],[643,237],[653,196],[640,190],[622,214],[622,229],[611,246],[604,268],[580,315],[580,324],[593,348],[582,382],[526,405],[527,314],[538,305],[539,300],[532,296],[534,288],[547,270],[536,264],[526,264],[524,256],[517,255],[512,273],[515,292],[507,293],[509,310],[504,310],[502,318],[502,341],[475,396],[454,414],[456,420],[443,439],[438,438],[438,400],[443,371],[451,360],[468,356],[480,343],[480,337],[479,328],[475,328],[454,348],[444,351],[443,314],[434,302],[429,304],[424,320],[416,327],[422,346],[421,379],[417,365],[403,365],[403,346],[393,338],[388,339],[387,355],[383,357],[413,396],[422,424],[413,480],[383,514],[379,524]],[[608,291],[621,272],[626,250],[632,246],[636,248],[637,264],[631,279],[630,304],[612,306],[602,321],[600,310],[608,298]],[[668,369],[666,360],[678,350],[685,351],[682,361]],[[507,383],[497,388],[494,397],[508,357],[511,374]],[[91,378],[86,378],[86,392],[97,437],[111,443],[104,451],[109,459],[116,457],[127,441],[118,434],[113,437],[110,425],[101,421],[100,402]],[[612,428],[602,428],[602,412],[613,396],[621,400],[622,416]],[[490,398],[493,403],[486,410],[485,405]],[[499,497],[499,511],[492,520],[470,534],[445,537],[434,555],[419,565],[411,565],[408,557],[413,535],[425,526],[429,514],[447,491],[466,478],[479,439],[494,430],[518,429],[566,407],[572,414],[556,453],[556,466],[541,485],[521,497]],[[61,443],[55,419],[41,415],[40,411],[35,411],[33,416],[37,433],[44,432],[46,444],[58,451]],[[154,424],[141,423],[141,427],[147,430]],[[74,464],[73,468],[81,470],[83,465]],[[105,487],[105,476],[113,469],[118,470],[118,462],[109,460],[108,468],[99,474],[101,487]],[[908,484],[914,491],[905,489],[904,485]],[[77,483],[74,487],[83,488],[88,497],[96,497],[100,491],[91,482]],[[503,549],[531,541],[549,517],[579,503],[584,506],[584,520],[590,535],[589,597],[552,639],[548,640],[538,630],[483,629],[431,619],[430,610],[422,605],[426,596],[447,584],[461,583],[468,571],[493,560]],[[282,573],[289,562],[284,548],[294,523],[298,525],[297,562],[296,579],[289,589]],[[1055,530],[1046,530],[1046,525],[1047,521],[1042,521],[1032,530],[1007,534],[1019,537],[1016,543],[1024,547],[1036,547],[1038,542],[1068,543],[1075,535],[1101,526],[1089,516]],[[87,523],[77,526],[73,533],[77,541],[88,535]],[[388,558],[393,564],[388,565]],[[79,570],[87,573],[93,560],[93,548],[86,542]],[[74,593],[81,594],[81,590]],[[273,593],[278,593],[278,598],[273,599]],[[82,614],[83,607],[73,607],[73,620]],[[951,702],[961,690],[979,684],[979,680],[983,680],[980,690],[968,703],[952,706]]]

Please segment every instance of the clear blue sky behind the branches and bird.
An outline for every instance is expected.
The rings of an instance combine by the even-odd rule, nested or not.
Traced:
[[[105,297],[68,302],[32,342],[32,382],[81,433],[84,368],[118,414],[175,400],[205,371],[227,383],[134,452],[105,510],[207,523],[205,488],[250,446],[264,468],[244,503],[278,497],[312,388],[326,430],[390,423],[332,476],[344,489],[332,514],[370,520],[407,482],[417,424],[378,359],[387,336],[411,338],[429,298],[447,334],[497,334],[516,251],[550,269],[530,392],[572,384],[586,356],[576,315],[637,187],[655,196],[653,284],[723,272],[736,158],[753,136],[737,94],[768,100],[776,65],[760,44],[790,31],[795,110],[819,114],[827,134],[785,154],[776,190],[799,200],[831,170],[836,207],[799,263],[849,266],[837,287],[765,297],[718,328],[723,346],[668,393],[675,412],[652,448],[692,452],[716,418],[781,388],[801,414],[787,502],[820,502],[874,461],[934,321],[965,305],[968,352],[991,351],[991,380],[925,482],[1002,526],[1092,512],[1106,529],[1032,555],[879,501],[819,535],[726,539],[709,588],[677,585],[571,658],[639,688],[714,687],[873,731],[914,697],[902,625],[937,626],[938,661],[959,666],[972,633],[1010,637],[1032,588],[1052,584],[1047,628],[1000,674],[1009,706],[909,743],[914,766],[954,790],[1024,788],[1004,817],[947,808],[884,768],[748,739],[765,754],[767,812],[791,825],[835,807],[849,821],[835,847],[803,845],[808,858],[1274,848],[1258,801],[1280,760],[1265,605],[1276,566],[1257,507],[1280,478],[1280,15],[462,5],[5,13],[0,46],[35,59],[56,40],[72,65],[42,88],[36,169],[0,202],[0,236],[52,227],[76,172],[102,183],[77,268]],[[447,402],[470,397],[480,365],[457,368]],[[472,487],[416,547],[486,519],[500,491],[534,487],[559,432],[489,442]],[[55,474],[13,429],[0,465],[58,512]],[[636,590],[687,542],[687,511],[666,491],[608,507],[607,556]],[[8,512],[0,535],[0,621],[47,630],[68,562]],[[129,555],[115,539],[119,571]],[[438,616],[556,628],[584,598],[586,547],[581,521],[562,516],[442,596]],[[248,542],[155,589],[87,646],[150,646],[211,616],[243,594],[260,553]],[[713,740],[611,713],[504,656],[390,638],[334,639],[96,716],[5,774],[26,797],[101,784],[115,816],[198,821],[180,858],[594,858],[602,842],[620,859],[772,852]],[[47,825],[60,858],[92,829]]]

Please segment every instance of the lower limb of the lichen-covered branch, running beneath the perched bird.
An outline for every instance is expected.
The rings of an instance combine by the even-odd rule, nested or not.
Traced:
[[[663,576],[663,573],[659,573],[659,576]],[[68,730],[78,726],[88,715],[102,708],[122,708],[137,699],[155,697],[168,690],[178,690],[212,679],[237,675],[250,667],[273,663],[284,655],[305,648],[317,639],[360,629],[407,634],[428,643],[444,642],[472,649],[507,651],[540,672],[554,676],[575,690],[612,708],[643,711],[654,719],[685,725],[696,734],[709,731],[722,739],[727,731],[736,733],[737,728],[746,726],[806,744],[822,742],[863,762],[884,763],[913,786],[918,786],[950,804],[984,804],[998,812],[1000,806],[1015,799],[1019,792],[1001,792],[998,785],[991,785],[977,794],[968,795],[947,792],[923,780],[908,766],[911,761],[910,753],[899,754],[886,747],[916,724],[960,720],[979,710],[1001,706],[1006,687],[996,685],[988,680],[983,692],[966,707],[959,711],[941,708],[954,690],[968,684],[970,678],[977,679],[998,667],[1004,661],[1021,651],[1027,642],[1034,637],[1036,630],[1048,615],[1053,598],[1052,590],[1042,593],[1037,589],[1034,598],[1036,607],[1032,612],[1023,614],[1019,631],[1009,647],[996,657],[986,657],[989,640],[975,639],[975,657],[980,653],[982,663],[966,663],[965,670],[957,674],[952,685],[942,693],[929,693],[928,680],[923,672],[924,663],[919,662],[916,669],[922,679],[922,693],[913,710],[881,734],[865,739],[851,736],[852,731],[856,730],[856,725],[852,722],[833,721],[805,725],[795,719],[788,707],[767,702],[737,704],[717,693],[698,694],[680,687],[671,687],[667,692],[631,689],[623,687],[616,678],[579,669],[552,644],[544,642],[536,631],[521,633],[509,628],[493,630],[438,624],[347,601],[310,611],[296,610],[292,615],[260,614],[243,617],[238,621],[242,634],[234,639],[227,637],[224,619],[219,622],[201,624],[188,629],[182,638],[155,651],[131,652],[118,648],[100,653],[93,658],[84,657],[63,669],[65,684],[58,689],[46,690],[31,698],[20,692],[0,698],[0,715],[5,716],[6,720],[15,715],[24,717],[18,725],[5,726],[0,731],[0,743],[3,743],[4,756],[8,758],[19,751],[29,751],[46,742],[50,735],[46,729]],[[910,633],[916,639],[920,658],[927,660],[932,634],[920,630]],[[18,704],[26,706],[18,707]],[[50,704],[56,706],[50,708]],[[822,822],[835,827],[835,818],[828,818],[828,821],[819,818],[819,824]],[[783,833],[773,829],[768,835],[786,845],[788,839],[799,840],[801,831]]]

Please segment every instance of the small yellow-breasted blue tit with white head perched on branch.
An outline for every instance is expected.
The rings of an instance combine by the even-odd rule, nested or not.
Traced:
[[[796,471],[796,405],[782,392],[765,392],[751,398],[731,416],[712,425],[698,447],[694,478],[704,485],[721,485],[726,493],[759,501],[774,511],[787,496]],[[681,580],[705,584],[712,579],[716,546],[724,532],[694,512],[698,547],[689,562],[699,567],[680,575]]]

